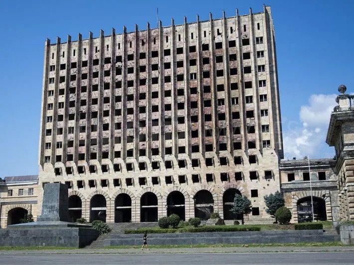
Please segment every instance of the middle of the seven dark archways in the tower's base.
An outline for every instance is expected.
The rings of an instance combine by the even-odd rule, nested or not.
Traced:
[[[140,198],[140,222],[157,222],[157,196],[145,192]]]

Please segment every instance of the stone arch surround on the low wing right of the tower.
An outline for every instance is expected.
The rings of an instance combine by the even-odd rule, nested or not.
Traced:
[[[293,191],[292,195],[292,218],[294,221],[298,221],[298,212],[297,212],[297,202],[298,200],[311,197],[311,191]],[[323,199],[326,205],[326,215],[327,220],[332,220],[332,205],[331,205],[331,195],[329,190],[312,190],[312,196]]]

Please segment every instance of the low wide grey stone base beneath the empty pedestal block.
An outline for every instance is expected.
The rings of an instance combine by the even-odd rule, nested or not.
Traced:
[[[0,246],[55,246],[82,248],[99,236],[92,228],[23,228],[0,229]]]

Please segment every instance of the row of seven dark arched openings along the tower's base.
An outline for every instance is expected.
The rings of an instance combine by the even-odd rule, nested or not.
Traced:
[[[231,212],[236,194],[241,194],[238,189],[230,188],[224,192],[224,219],[233,220],[238,216]],[[177,214],[185,220],[185,197],[180,191],[172,191],[167,196],[167,216]],[[200,190],[194,196],[195,216],[207,220],[214,212],[214,198],[209,190]],[[153,192],[145,192],[140,198],[140,222],[157,222],[158,200]],[[106,221],[107,201],[104,195],[96,194],[90,201],[90,222],[94,220]],[[75,221],[82,215],[82,201],[78,195],[69,197],[69,216]],[[131,198],[126,193],[120,193],[115,199],[115,222],[131,222]]]

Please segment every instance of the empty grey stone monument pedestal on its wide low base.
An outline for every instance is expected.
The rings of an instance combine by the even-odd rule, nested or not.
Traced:
[[[0,230],[0,246],[60,246],[81,248],[97,239],[90,224],[68,222],[68,186],[44,185],[42,214],[37,222],[15,224]]]

